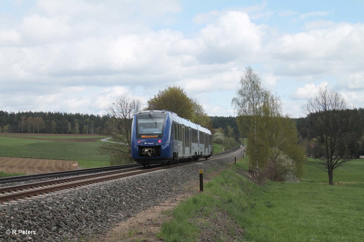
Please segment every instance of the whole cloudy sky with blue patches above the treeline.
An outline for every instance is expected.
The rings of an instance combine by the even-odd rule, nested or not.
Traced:
[[[363,13],[364,0],[0,0],[0,109],[102,115],[177,85],[234,116],[248,65],[292,117],[319,86],[364,107]]]

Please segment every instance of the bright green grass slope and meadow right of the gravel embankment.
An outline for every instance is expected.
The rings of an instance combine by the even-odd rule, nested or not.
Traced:
[[[201,224],[227,214],[233,222],[230,234],[239,229],[236,241],[251,242],[359,242],[364,238],[364,162],[353,160],[337,169],[334,186],[327,173],[308,159],[304,178],[314,181],[253,184],[242,173],[246,159],[207,182],[202,194],[182,202],[170,214],[159,238],[165,241],[198,241]],[[202,211],[202,212],[201,212]],[[217,213],[222,211],[222,213]],[[226,241],[226,233],[214,241]]]

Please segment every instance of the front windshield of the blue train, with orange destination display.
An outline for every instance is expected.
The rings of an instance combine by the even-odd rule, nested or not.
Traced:
[[[137,116],[137,139],[163,138],[165,114]]]

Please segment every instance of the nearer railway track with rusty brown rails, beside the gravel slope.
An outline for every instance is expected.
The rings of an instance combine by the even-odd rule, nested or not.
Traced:
[[[241,148],[236,148],[231,151],[212,155],[210,159],[217,159],[219,157],[230,156],[240,152]],[[40,181],[23,185],[7,186],[0,188],[0,202],[8,203],[11,201],[19,201],[24,198],[31,198],[37,195],[49,194],[58,192],[60,190],[76,188],[83,185],[94,184],[97,182],[108,181],[118,179],[126,176],[134,176],[142,173],[157,171],[160,169],[177,167],[180,165],[186,165],[191,163],[201,162],[202,160],[190,161],[185,163],[178,163],[169,166],[158,166],[153,168],[142,168],[140,166],[133,168],[124,168],[118,171],[100,172],[91,175],[74,176],[68,178],[61,178],[49,181]]]

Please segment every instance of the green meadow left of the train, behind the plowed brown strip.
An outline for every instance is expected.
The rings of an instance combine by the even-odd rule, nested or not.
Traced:
[[[107,166],[110,156],[99,152],[99,139],[102,138],[95,135],[1,134],[0,156],[77,160],[82,168]]]

